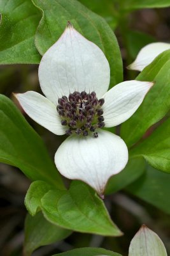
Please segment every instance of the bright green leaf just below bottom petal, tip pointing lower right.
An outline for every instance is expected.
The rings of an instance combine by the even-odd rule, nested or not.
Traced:
[[[121,236],[93,189],[72,182],[69,191],[50,190],[41,199],[46,220],[63,228],[103,236]]]

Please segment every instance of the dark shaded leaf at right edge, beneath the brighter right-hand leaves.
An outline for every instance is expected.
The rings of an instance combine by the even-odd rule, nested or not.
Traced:
[[[138,196],[142,200],[170,214],[169,184],[169,174],[159,172],[148,166],[145,174],[126,189],[132,195]]]

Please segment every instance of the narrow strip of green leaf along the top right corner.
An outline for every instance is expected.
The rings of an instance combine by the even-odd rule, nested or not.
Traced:
[[[131,11],[143,8],[164,8],[170,6],[169,0],[122,0],[122,9]]]

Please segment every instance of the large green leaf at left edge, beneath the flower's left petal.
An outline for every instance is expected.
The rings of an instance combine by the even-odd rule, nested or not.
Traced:
[[[31,180],[45,180],[64,188],[41,138],[27,123],[13,102],[0,95],[0,161],[11,164]]]

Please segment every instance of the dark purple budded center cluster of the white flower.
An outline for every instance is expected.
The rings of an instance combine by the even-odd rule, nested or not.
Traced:
[[[96,129],[104,127],[103,109],[104,99],[97,99],[96,92],[74,92],[69,97],[59,98],[57,112],[61,124],[66,125],[67,135],[78,134],[88,136],[93,133],[98,137]]]

